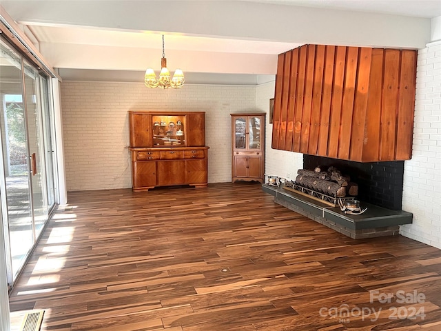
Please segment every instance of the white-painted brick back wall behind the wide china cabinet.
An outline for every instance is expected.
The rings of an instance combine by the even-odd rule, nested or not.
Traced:
[[[131,188],[128,110],[205,111],[209,183],[231,181],[231,117],[255,111],[254,86],[61,83],[68,191]]]

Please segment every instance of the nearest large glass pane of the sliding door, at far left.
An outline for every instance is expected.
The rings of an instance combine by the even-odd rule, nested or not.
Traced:
[[[28,150],[21,85],[21,59],[0,40],[1,144],[6,177],[9,254],[15,279],[34,244],[28,179]],[[2,192],[3,193],[3,192]]]

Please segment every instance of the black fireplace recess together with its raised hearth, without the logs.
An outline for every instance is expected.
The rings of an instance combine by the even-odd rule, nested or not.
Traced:
[[[358,163],[304,154],[304,169],[314,170],[318,165],[325,169],[333,166],[358,184],[357,199],[364,212],[348,214],[340,206],[282,185],[264,183],[262,188],[274,195],[275,203],[352,239],[395,236],[400,225],[412,223],[412,214],[401,210],[404,161]]]

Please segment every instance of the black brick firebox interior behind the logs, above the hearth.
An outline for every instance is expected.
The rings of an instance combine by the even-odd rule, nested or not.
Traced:
[[[360,163],[303,155],[303,168],[314,170],[317,165],[334,166],[358,184],[360,201],[390,210],[401,210],[404,161]]]

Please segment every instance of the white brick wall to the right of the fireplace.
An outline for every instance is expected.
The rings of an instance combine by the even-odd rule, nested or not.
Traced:
[[[441,248],[441,42],[418,51],[413,157],[404,162],[402,209],[411,239]]]

